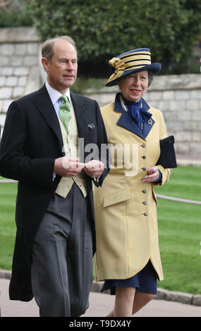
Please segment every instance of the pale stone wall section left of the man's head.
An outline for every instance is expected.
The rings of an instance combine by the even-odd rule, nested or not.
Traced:
[[[0,29],[0,125],[9,104],[40,85],[40,39],[32,28]]]

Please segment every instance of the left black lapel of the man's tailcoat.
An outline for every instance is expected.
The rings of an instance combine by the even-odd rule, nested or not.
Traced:
[[[41,113],[44,120],[47,122],[49,127],[54,131],[56,137],[59,139],[59,145],[61,147],[61,152],[63,153],[63,139],[61,135],[61,127],[59,125],[59,119],[56,115],[54,106],[49,98],[49,94],[45,85],[39,89],[38,96],[35,98],[35,106]],[[36,127],[37,130],[37,127]]]

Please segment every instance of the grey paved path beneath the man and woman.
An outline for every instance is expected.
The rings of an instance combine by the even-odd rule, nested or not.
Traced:
[[[1,317],[38,317],[39,310],[33,299],[30,302],[10,301],[8,299],[9,280],[0,279]],[[90,308],[85,317],[103,317],[114,306],[114,296],[97,292],[90,293]],[[201,317],[201,307],[179,302],[152,300],[135,317]]]

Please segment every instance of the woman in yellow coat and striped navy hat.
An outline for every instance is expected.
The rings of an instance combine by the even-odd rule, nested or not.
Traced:
[[[160,63],[150,49],[133,49],[109,61],[106,86],[118,85],[114,103],[102,108],[109,138],[111,170],[95,187],[97,281],[116,294],[106,316],[132,316],[157,294],[163,279],[153,185],[163,185],[170,171],[157,165],[160,139],[167,136],[162,113],[143,99]]]

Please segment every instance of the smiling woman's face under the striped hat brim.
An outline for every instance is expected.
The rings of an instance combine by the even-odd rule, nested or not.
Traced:
[[[121,78],[118,86],[125,99],[138,102],[148,87],[148,70]]]

